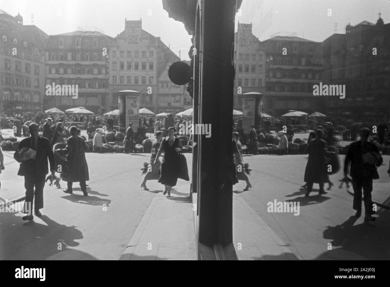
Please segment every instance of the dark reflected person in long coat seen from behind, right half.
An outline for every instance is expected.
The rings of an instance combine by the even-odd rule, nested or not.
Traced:
[[[330,152],[326,149],[326,142],[322,139],[324,132],[322,129],[316,131],[316,138],[309,143],[308,151],[309,158],[307,161],[308,168],[305,172],[305,181],[307,182],[307,192],[305,196],[309,196],[312,191],[313,184],[319,184],[319,194],[326,194],[324,191],[324,182],[329,181],[329,175],[326,167],[326,157],[332,156],[335,152]]]

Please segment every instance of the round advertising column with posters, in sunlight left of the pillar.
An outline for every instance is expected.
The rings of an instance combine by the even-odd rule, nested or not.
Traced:
[[[138,129],[138,112],[140,109],[140,92],[135,90],[119,91],[119,132],[126,133],[132,122],[133,131]]]

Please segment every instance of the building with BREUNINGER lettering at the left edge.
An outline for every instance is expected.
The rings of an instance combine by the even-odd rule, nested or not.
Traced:
[[[0,10],[0,112],[42,110],[45,92],[44,49],[48,35],[23,17]]]

